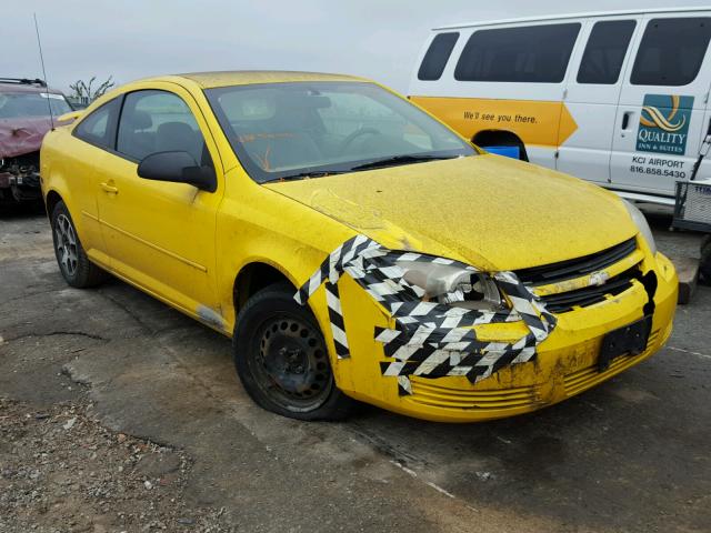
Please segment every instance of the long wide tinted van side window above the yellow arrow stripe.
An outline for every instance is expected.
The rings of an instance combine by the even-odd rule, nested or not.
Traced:
[[[579,32],[578,22],[475,31],[459,58],[454,78],[560,83]]]

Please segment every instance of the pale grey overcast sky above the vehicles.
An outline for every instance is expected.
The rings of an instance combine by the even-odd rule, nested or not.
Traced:
[[[407,93],[433,27],[560,13],[560,0],[2,0],[0,76],[118,84],[209,70],[308,70],[374,79]],[[708,0],[567,0],[565,12],[702,7]]]

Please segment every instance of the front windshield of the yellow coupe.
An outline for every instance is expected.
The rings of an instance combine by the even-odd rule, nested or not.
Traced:
[[[206,93],[240,162],[260,183],[477,153],[373,83],[250,84]]]

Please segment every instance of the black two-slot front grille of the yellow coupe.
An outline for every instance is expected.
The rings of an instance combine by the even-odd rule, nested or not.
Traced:
[[[517,275],[529,286],[560,283],[612,266],[632,254],[635,250],[637,241],[632,238],[612,248],[583,258],[519,270],[517,271]],[[639,275],[640,270],[639,266],[635,265],[609,278],[603,284],[547,294],[541,296],[541,301],[545,303],[545,309],[551,313],[565,313],[572,311],[573,308],[593,305],[605,301],[608,298],[623,293],[632,286],[632,281],[638,279]]]

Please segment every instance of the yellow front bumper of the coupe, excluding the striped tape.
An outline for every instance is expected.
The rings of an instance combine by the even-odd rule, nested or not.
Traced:
[[[372,332],[374,325],[388,326],[390,319],[353,280],[343,276],[339,286],[351,358],[332,356],[338,385],[367,403],[441,422],[500,419],[558,403],[648,359],[669,339],[677,305],[677,274],[661,253],[654,259],[648,258],[643,270],[653,270],[658,278],[652,329],[643,353],[614,359],[605,371],[598,372],[597,359],[604,334],[642,318],[642,308],[649,298],[642,284],[635,282],[613,299],[558,315],[555,330],[538,346],[533,361],[505,366],[477,384],[463,376],[411,376],[410,395],[400,395],[395,380],[380,373],[382,344],[373,341]],[[319,304],[316,308],[328,338],[327,310],[318,309]],[[489,324],[478,329],[478,334],[490,334],[494,339],[508,330],[515,338],[522,331],[517,328],[523,326]],[[329,341],[332,343],[332,339]]]

